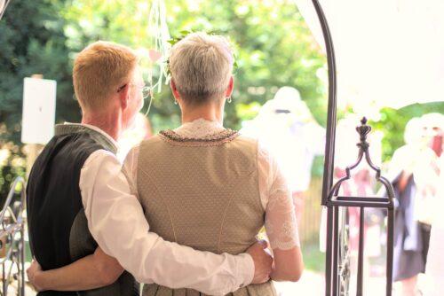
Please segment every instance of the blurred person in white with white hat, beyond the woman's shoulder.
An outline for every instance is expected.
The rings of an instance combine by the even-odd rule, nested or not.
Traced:
[[[274,155],[289,182],[300,222],[313,159],[324,152],[325,129],[313,118],[299,91],[284,86],[254,120],[244,122],[241,134],[258,139]]]

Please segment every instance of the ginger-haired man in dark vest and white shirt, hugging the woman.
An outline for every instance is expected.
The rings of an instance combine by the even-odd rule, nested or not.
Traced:
[[[31,282],[38,290],[102,287],[85,292],[88,295],[139,294],[134,278],[123,269],[142,283],[215,295],[266,282],[273,260],[264,245],[253,245],[249,254],[217,255],[148,232],[139,200],[131,195],[115,157],[115,140],[143,105],[138,61],[131,49],[104,42],[92,43],[75,58],[73,80],[82,124],[56,126],[28,180],[31,248],[44,270],[53,269],[41,272],[34,264],[28,270]],[[124,202],[118,208],[109,206],[115,199]],[[107,219],[95,221],[98,211],[105,211]]]

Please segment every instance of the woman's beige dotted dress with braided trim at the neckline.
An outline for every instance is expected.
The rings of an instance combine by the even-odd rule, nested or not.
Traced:
[[[281,216],[287,217],[278,222],[282,230],[274,230],[276,221],[268,222],[272,247],[288,249],[299,244],[288,189],[270,186],[266,190],[274,192],[267,194],[277,197],[264,205],[261,191],[265,186],[259,178],[263,163],[258,161],[257,141],[229,129],[199,137],[168,130],[143,142],[137,150],[137,166],[131,169],[132,153],[126,167],[132,171],[151,230],[164,239],[212,253],[244,253],[256,242],[266,216],[277,216],[276,210],[281,209]],[[275,179],[273,183],[278,183]],[[287,210],[282,211],[283,207]],[[146,284],[144,295],[203,294]],[[268,282],[240,287],[230,295],[274,296],[276,292]]]

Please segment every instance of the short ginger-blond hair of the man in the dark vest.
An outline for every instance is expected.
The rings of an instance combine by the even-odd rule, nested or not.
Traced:
[[[107,98],[125,83],[139,63],[129,47],[99,41],[81,51],[74,61],[75,97],[83,111],[99,111],[107,106]]]

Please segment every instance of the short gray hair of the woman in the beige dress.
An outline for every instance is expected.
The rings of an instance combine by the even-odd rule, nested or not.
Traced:
[[[223,97],[233,71],[233,52],[225,37],[192,33],[174,44],[170,73],[178,93],[190,104]]]

